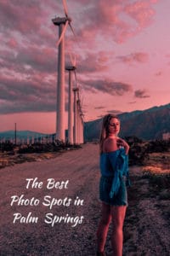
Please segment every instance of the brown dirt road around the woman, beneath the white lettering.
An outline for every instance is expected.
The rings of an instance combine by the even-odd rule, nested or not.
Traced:
[[[0,170],[0,255],[93,256],[99,222],[99,149],[87,144],[52,160]],[[150,194],[140,169],[124,226],[123,255],[169,255],[169,201]],[[166,207],[167,205],[167,207]],[[111,253],[111,230],[106,251]]]

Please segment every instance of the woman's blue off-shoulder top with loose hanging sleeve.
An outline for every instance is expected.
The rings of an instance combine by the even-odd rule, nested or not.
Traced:
[[[121,185],[122,177],[127,177],[127,186],[130,186],[128,176],[128,154],[124,148],[119,148],[116,151],[100,154],[99,166],[101,175],[104,177],[112,177],[110,197],[118,193]]]

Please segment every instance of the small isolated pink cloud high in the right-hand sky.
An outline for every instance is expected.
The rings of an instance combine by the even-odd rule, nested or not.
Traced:
[[[116,56],[116,59],[127,64],[132,64],[133,62],[144,63],[149,60],[149,55],[144,52],[136,52],[130,55]]]

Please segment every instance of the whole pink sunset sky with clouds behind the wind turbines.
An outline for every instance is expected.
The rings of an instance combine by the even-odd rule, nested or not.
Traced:
[[[65,62],[77,59],[84,120],[170,99],[169,0],[67,0]],[[55,132],[62,0],[0,1],[0,131]],[[65,72],[67,109],[68,73]],[[67,119],[67,112],[65,113]]]

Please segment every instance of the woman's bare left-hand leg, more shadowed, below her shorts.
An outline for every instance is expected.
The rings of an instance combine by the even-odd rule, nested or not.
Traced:
[[[101,219],[99,221],[99,227],[97,230],[97,250],[98,252],[104,252],[105,240],[111,222],[111,206],[102,202]]]

